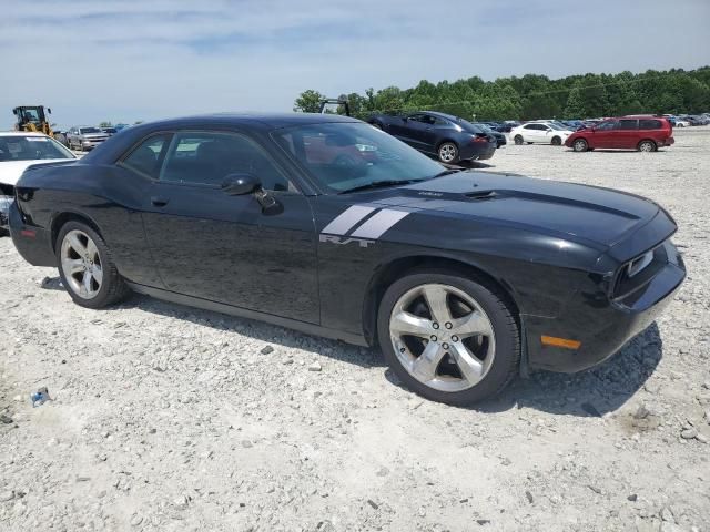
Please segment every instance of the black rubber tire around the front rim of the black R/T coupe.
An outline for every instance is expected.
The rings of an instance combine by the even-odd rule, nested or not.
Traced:
[[[393,308],[404,294],[427,284],[457,288],[473,297],[487,315],[495,335],[494,359],[483,380],[462,391],[442,391],[413,377],[399,361],[390,339]],[[506,297],[494,286],[447,269],[422,269],[393,283],[385,291],[377,315],[377,338],[385,360],[404,385],[433,401],[469,406],[499,393],[517,375],[520,365],[520,334]]]

